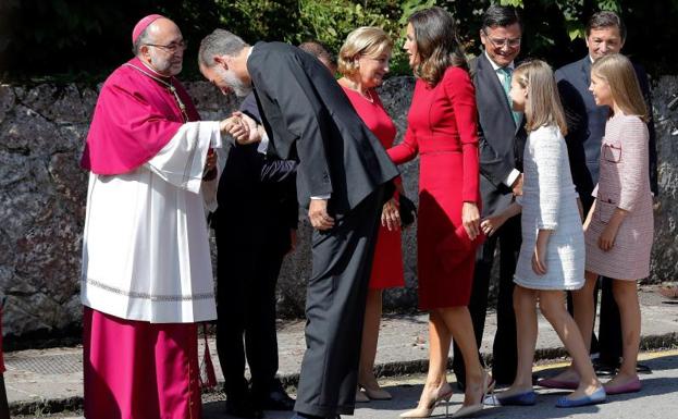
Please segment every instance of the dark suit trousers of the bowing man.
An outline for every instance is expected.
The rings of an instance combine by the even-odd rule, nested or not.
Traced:
[[[353,415],[382,195],[379,188],[348,213],[335,215],[330,231],[313,231],[298,412]]]

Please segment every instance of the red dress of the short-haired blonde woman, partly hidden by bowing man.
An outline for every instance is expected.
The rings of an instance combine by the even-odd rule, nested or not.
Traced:
[[[370,90],[372,102],[356,90],[342,86],[348,100],[368,128],[379,138],[384,148],[393,146],[395,125],[384,110],[384,106],[374,90]],[[379,227],[374,261],[370,275],[370,288],[391,288],[405,286],[403,274],[403,248],[400,230],[389,231],[383,225]]]

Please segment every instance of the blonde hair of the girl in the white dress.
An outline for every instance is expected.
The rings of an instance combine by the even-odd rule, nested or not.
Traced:
[[[553,70],[541,60],[522,63],[514,71],[514,79],[527,88],[529,101],[525,107],[526,130],[534,131],[540,126],[557,125],[563,135],[567,134],[565,112]]]

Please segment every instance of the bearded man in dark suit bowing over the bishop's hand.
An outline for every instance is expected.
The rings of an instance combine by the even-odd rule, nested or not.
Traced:
[[[202,40],[199,63],[224,93],[254,88],[269,152],[298,158],[297,198],[315,230],[295,410],[300,418],[350,415],[379,214],[398,172],[312,56],[281,42],[251,47],[217,29]]]

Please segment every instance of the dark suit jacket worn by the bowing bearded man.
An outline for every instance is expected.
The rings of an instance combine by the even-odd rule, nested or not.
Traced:
[[[282,42],[257,42],[247,60],[269,152],[298,156],[297,197],[331,195],[345,213],[398,175],[379,139],[312,56]]]

